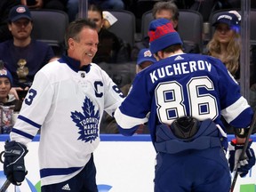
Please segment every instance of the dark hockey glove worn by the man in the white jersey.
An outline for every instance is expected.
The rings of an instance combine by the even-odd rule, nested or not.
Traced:
[[[13,185],[19,186],[28,173],[24,164],[24,156],[28,153],[28,149],[21,143],[8,140],[4,149],[4,174]]]

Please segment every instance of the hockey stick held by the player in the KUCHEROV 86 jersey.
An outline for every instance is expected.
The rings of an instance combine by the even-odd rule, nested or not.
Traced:
[[[251,134],[252,134],[252,130],[253,130],[253,127],[256,123],[256,112],[254,113],[253,117],[252,117],[252,123],[250,124],[250,128],[249,128],[249,131],[248,131],[248,134],[247,134],[247,137],[246,137],[246,140],[244,142],[244,148],[241,152],[241,155],[239,156],[239,159],[238,159],[238,162],[237,164],[239,164],[239,161],[243,160],[244,159],[244,154],[245,154],[245,151],[248,147],[248,144],[249,144],[249,140],[250,140],[250,137],[251,137]],[[232,184],[231,184],[231,189],[230,189],[230,192],[233,192],[234,188],[235,188],[235,185],[236,185],[236,180],[237,180],[237,176],[238,176],[238,172],[237,172],[237,168],[236,168],[236,172],[235,172],[235,175],[234,175],[234,179],[232,181]]]

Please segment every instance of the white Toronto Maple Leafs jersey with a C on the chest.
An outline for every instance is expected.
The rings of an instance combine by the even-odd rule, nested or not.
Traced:
[[[100,142],[105,110],[113,116],[123,93],[98,65],[79,69],[63,56],[37,72],[11,132],[27,144],[38,130],[41,185],[68,180],[80,172]]]

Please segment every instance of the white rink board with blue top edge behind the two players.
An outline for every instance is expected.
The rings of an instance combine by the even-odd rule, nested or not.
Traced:
[[[8,135],[0,135],[0,151],[4,149],[4,141]],[[228,140],[232,137],[228,136]],[[153,192],[154,166],[156,152],[149,135],[124,137],[119,134],[100,135],[100,146],[94,152],[97,167],[97,184],[99,192]],[[256,136],[252,136],[252,148],[256,151]],[[16,192],[39,192],[38,142],[36,136],[28,144],[26,166],[27,180],[16,188]],[[51,157],[49,157],[51,158]],[[236,180],[234,192],[256,192],[256,167],[245,178]],[[5,180],[3,165],[0,166],[0,187]],[[8,192],[14,192],[11,185]]]

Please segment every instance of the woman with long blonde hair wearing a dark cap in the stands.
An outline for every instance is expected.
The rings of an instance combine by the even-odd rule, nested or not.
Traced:
[[[207,53],[220,59],[236,79],[240,78],[240,21],[236,11],[220,14],[212,24],[215,27],[212,40],[206,45]]]

